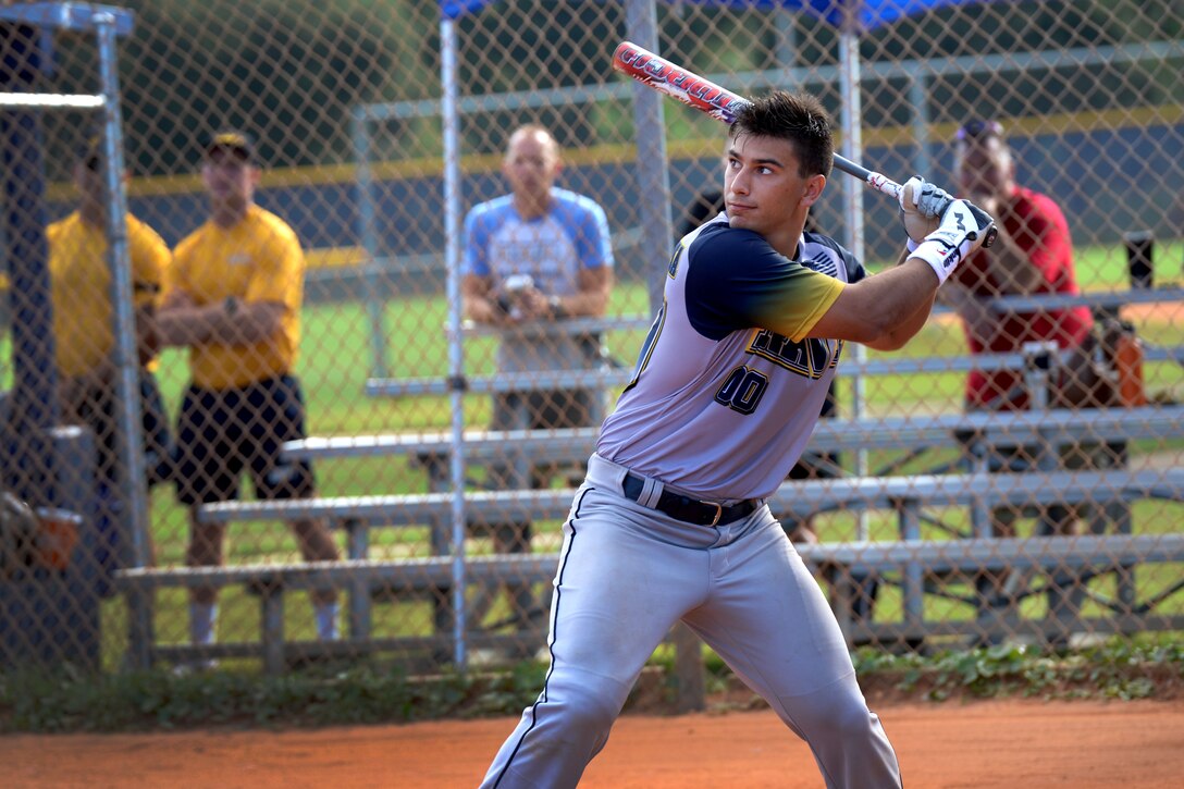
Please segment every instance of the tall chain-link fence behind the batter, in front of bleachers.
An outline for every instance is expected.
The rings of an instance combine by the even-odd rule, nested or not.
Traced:
[[[1178,628],[1178,6],[843,6],[126,4],[147,540],[115,440],[102,129],[92,111],[4,110],[6,152],[39,152],[32,177],[9,169],[4,205],[0,372],[20,458],[7,486],[83,515],[66,558],[85,570],[46,599],[94,620],[50,635],[107,668],[363,655],[435,668],[545,647],[571,488],[676,239],[722,187],[725,127],[616,75],[625,39],[741,94],[816,94],[842,153],[896,180],[977,194],[959,156],[1009,152],[1019,194],[1067,220],[1072,268],[1043,246],[1055,227],[1009,209],[1005,235],[1051,261],[1049,282],[964,278],[972,297],[944,300],[905,351],[839,366],[836,418],[793,475],[807,479],[772,506],[851,642]],[[0,27],[8,52],[19,26]],[[4,90],[99,92],[94,37],[32,30],[39,56],[6,58]],[[552,177],[561,199],[535,206]],[[812,216],[873,271],[903,240],[895,203],[838,172]],[[21,235],[51,222],[41,240]],[[1069,342],[1056,327],[1073,321]],[[1095,378],[1070,402],[1048,383],[1073,359]],[[94,445],[51,430],[67,424],[97,431]],[[25,468],[45,457],[49,470]],[[1043,535],[1066,539],[1009,539]],[[110,571],[137,557],[156,571],[121,592]],[[20,589],[62,570],[5,562],[12,620]]]

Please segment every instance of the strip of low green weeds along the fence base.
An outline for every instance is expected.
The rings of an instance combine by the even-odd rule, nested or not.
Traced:
[[[1043,699],[1175,698],[1184,681],[1184,647],[1166,637],[1113,640],[1089,650],[1047,654],[990,647],[932,656],[861,649],[856,669],[871,698],[944,701],[1023,695]],[[707,668],[713,706],[735,706],[738,681],[719,657]],[[629,708],[670,708],[676,692],[668,649],[651,661],[658,681],[639,684]],[[189,727],[298,727],[410,723],[507,716],[529,705],[546,667],[523,662],[496,674],[412,678],[397,665],[353,661],[281,676],[223,669],[99,676],[50,671],[0,674],[0,733],[115,732]],[[659,698],[642,698],[657,687]],[[761,704],[745,703],[745,706]]]

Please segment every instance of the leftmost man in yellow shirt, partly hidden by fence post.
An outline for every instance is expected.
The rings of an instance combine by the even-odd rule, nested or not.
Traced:
[[[53,334],[57,346],[59,402],[66,423],[90,428],[97,455],[99,544],[96,569],[99,591],[109,590],[110,572],[120,564],[120,496],[115,495],[122,460],[116,451],[116,374],[111,360],[115,320],[111,309],[111,269],[108,261],[108,195],[99,167],[101,139],[79,152],[73,166],[78,206],[46,229]],[[133,300],[140,360],[140,409],[143,425],[148,485],[169,473],[172,437],[155,367],[154,313],[172,255],[163,239],[147,224],[127,214],[128,252],[131,261]],[[128,557],[129,558],[129,557]]]

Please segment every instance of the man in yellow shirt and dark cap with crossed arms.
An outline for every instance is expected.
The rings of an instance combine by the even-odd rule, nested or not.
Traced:
[[[237,499],[244,472],[260,499],[316,493],[311,467],[281,456],[285,441],[305,436],[292,373],[304,254],[292,229],[255,204],[259,175],[245,135],[230,132],[211,141],[201,167],[210,219],[174,250],[161,307],[165,344],[189,348],[192,380],[176,428],[178,498],[191,515],[189,566],[223,564],[226,527],[197,522],[197,508]],[[340,558],[322,521],[290,526],[307,560]],[[217,594],[192,590],[194,643],[214,641]],[[318,636],[337,637],[336,591],[314,591],[313,603]]]

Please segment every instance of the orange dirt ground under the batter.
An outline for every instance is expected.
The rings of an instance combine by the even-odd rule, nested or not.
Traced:
[[[879,705],[905,785],[1178,787],[1184,701]],[[318,731],[0,738],[6,787],[475,787],[508,718]],[[581,788],[822,787],[776,717],[625,716]]]

